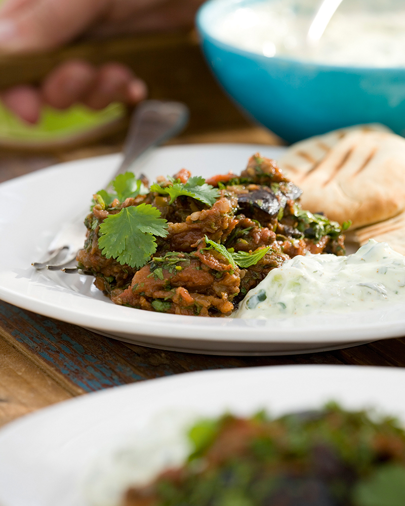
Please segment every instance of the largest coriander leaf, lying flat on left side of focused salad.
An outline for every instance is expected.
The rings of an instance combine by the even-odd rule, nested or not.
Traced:
[[[143,267],[156,251],[155,235],[166,237],[167,221],[150,204],[124,207],[100,225],[98,244],[106,258],[121,265]]]

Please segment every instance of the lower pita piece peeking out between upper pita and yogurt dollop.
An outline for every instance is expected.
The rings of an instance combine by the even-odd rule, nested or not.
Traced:
[[[375,225],[353,230],[346,238],[357,242],[360,246],[366,244],[369,239],[387,242],[392,249],[405,255],[405,212]]]

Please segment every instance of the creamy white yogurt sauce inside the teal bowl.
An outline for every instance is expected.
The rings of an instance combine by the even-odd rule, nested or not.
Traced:
[[[348,8],[351,2],[346,0]],[[405,66],[405,8],[398,4],[394,11],[347,12],[346,5],[343,2],[314,47],[305,43],[314,10],[297,13],[294,3],[285,0],[236,9],[219,19],[213,31],[225,43],[267,57],[331,65]]]

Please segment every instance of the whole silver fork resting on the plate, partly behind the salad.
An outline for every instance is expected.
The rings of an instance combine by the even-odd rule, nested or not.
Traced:
[[[131,118],[124,144],[124,159],[111,179],[127,172],[135,160],[147,150],[181,132],[187,124],[188,116],[187,106],[180,102],[160,100],[142,102]],[[109,186],[106,190],[108,188]],[[72,262],[84,243],[83,220],[84,213],[65,225],[52,240],[47,252],[48,258],[43,262],[32,262],[32,266],[35,269],[47,268],[55,271]],[[62,270],[69,274],[78,272],[77,267],[66,267]]]

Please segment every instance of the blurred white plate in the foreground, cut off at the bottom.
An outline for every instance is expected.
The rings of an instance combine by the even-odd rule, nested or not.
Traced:
[[[276,416],[336,400],[404,422],[404,381],[405,371],[397,368],[273,366],[179,374],[78,397],[0,431],[0,504],[88,506],[89,469],[124,442],[142,443],[139,435],[156,419],[163,423],[162,414],[248,415],[264,408]],[[178,423],[175,416],[166,419]]]

